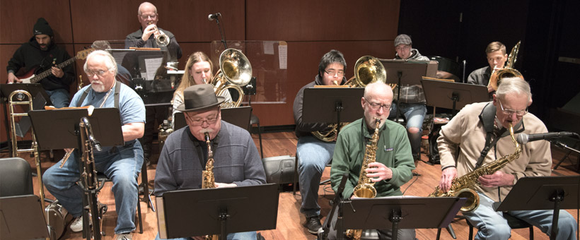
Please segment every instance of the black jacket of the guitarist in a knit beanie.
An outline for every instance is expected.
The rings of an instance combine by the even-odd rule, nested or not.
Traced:
[[[30,41],[25,42],[16,49],[12,58],[8,61],[8,66],[6,66],[6,71],[13,73],[18,73],[18,70],[25,68],[25,73],[28,73],[30,69],[37,68],[35,74],[42,73],[43,71],[49,70],[52,66],[61,64],[63,61],[71,59],[66,50],[57,47],[54,42],[50,42],[47,51],[42,51],[40,45],[36,42],[35,37],[32,37]],[[62,78],[57,78],[54,75],[50,75],[42,80],[42,88],[45,90],[56,90],[62,88],[69,91],[69,86],[74,80],[74,70],[72,64],[69,66],[64,66],[62,68],[64,76]]]

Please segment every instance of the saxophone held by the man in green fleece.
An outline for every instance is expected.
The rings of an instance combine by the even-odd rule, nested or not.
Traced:
[[[359,183],[354,187],[353,194],[356,198],[375,198],[376,189],[375,183],[371,181],[369,176],[366,176],[366,169],[369,164],[376,161],[376,146],[378,144],[378,127],[381,125],[381,119],[375,119],[375,133],[371,138],[371,143],[366,145],[364,151],[364,159],[361,166],[361,174],[359,174]],[[347,229],[346,235],[351,239],[361,239],[362,229]]]

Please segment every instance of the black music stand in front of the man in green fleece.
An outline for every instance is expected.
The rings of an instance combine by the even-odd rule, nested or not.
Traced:
[[[354,198],[342,204],[344,229],[398,229],[447,227],[466,198]],[[437,206],[437,208],[434,208]],[[340,224],[337,224],[340,225]],[[341,233],[343,229],[337,229]],[[342,234],[339,234],[342,235]]]

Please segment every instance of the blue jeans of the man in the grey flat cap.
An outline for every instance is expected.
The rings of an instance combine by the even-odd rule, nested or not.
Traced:
[[[393,102],[390,107],[389,119],[395,119],[397,116],[397,104]],[[421,152],[421,135],[423,132],[423,119],[427,113],[427,107],[424,103],[405,103],[400,104],[400,113],[405,116],[407,120],[407,136],[409,137],[409,142],[411,143],[411,151],[414,160],[419,159],[419,153]],[[418,128],[418,131],[414,129]]]

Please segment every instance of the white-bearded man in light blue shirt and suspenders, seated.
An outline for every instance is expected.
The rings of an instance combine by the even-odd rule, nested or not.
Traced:
[[[145,105],[134,90],[115,80],[117,64],[108,52],[95,51],[88,54],[84,71],[91,79],[91,85],[76,92],[70,107],[116,107],[121,114],[124,145],[95,150],[94,158],[95,170],[103,172],[112,180],[118,215],[115,227],[117,240],[131,239],[138,204],[137,176],[143,164],[143,150],[136,139],[143,136]],[[76,160],[79,156],[76,154],[76,151],[73,152],[62,168],[59,166],[64,160],[47,169],[42,180],[59,203],[76,217],[71,223],[71,230],[80,232],[83,229],[83,190],[76,185],[80,176],[79,162]]]

